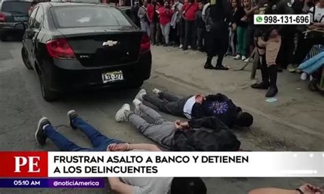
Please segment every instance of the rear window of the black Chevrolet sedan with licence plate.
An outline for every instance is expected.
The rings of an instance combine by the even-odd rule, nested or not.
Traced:
[[[52,8],[57,28],[131,26],[116,8],[106,6],[65,6]]]

